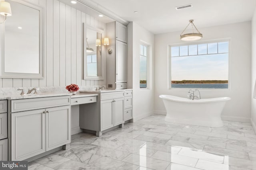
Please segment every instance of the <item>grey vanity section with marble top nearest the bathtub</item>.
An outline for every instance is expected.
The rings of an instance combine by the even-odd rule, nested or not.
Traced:
[[[79,125],[81,129],[96,131],[96,136],[115,127],[124,126],[132,119],[132,90],[84,91],[98,93],[97,102],[80,105]]]

